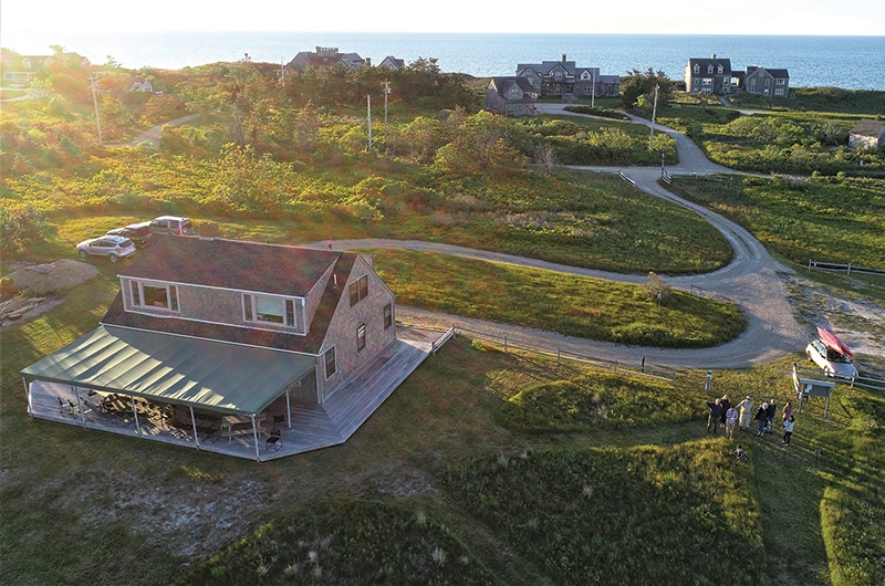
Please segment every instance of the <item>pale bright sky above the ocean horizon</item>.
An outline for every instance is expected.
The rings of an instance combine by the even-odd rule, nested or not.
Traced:
[[[885,0],[0,0],[6,31],[885,35]]]

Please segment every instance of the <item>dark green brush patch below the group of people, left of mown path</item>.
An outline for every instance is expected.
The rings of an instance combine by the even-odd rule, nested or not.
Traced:
[[[699,441],[486,456],[445,480],[553,584],[715,584],[733,552],[754,563],[728,582],[760,584],[753,473],[727,452]]]

